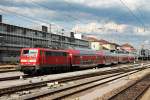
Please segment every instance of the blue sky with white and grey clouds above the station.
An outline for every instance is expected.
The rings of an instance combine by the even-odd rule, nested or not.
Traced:
[[[150,47],[150,0],[0,0],[3,21]]]

